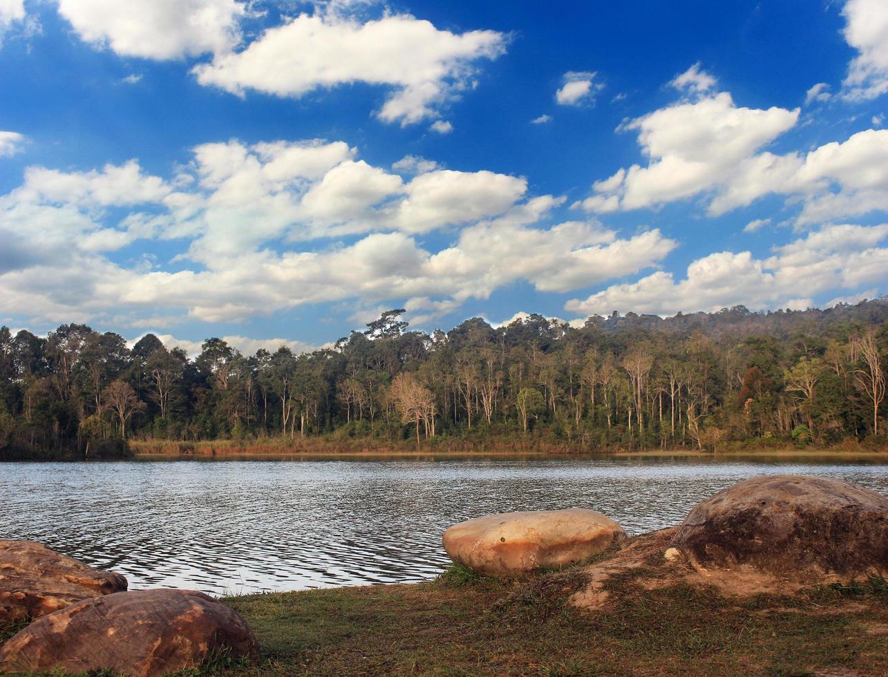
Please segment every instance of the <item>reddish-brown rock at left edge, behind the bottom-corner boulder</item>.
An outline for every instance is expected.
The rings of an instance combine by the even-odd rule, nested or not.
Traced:
[[[126,590],[119,573],[100,571],[32,540],[0,540],[0,623],[40,618]]]

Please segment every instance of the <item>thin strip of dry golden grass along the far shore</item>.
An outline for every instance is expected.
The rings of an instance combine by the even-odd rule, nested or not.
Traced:
[[[274,437],[260,440],[131,440],[131,453],[136,457],[270,457],[270,456],[511,456],[511,455],[575,455],[618,454],[648,456],[729,456],[729,455],[859,455],[888,457],[884,445],[845,441],[838,445],[797,446],[786,443],[750,441],[725,443],[716,450],[694,447],[660,448],[608,447],[590,448],[569,440],[545,438],[509,438],[467,440],[440,437],[424,440],[419,449],[411,441],[392,442],[376,438]]]

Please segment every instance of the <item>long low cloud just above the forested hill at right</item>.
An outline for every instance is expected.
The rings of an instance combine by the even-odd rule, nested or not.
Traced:
[[[884,283],[888,266],[888,224],[827,225],[805,238],[757,259],[748,251],[718,252],[687,267],[685,279],[654,272],[636,282],[613,285],[584,300],[567,302],[567,311],[606,314],[614,310],[672,315],[678,311],[718,311],[738,303],[753,309],[802,308],[817,295]]]

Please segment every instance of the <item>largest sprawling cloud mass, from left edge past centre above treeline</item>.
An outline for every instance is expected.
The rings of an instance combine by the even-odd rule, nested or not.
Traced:
[[[155,327],[238,322],[360,299],[406,303],[429,319],[517,280],[566,291],[623,277],[676,246],[659,231],[548,224],[564,199],[528,198],[522,177],[395,164],[411,173],[373,167],[339,141],[233,140],[195,147],[170,178],[138,161],[29,168],[0,196],[4,311],[147,328],[147,314]],[[444,248],[416,239],[446,227],[455,240]],[[175,266],[109,258],[139,239],[175,240]]]

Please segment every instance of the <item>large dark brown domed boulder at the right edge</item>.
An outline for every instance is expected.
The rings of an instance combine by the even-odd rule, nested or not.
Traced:
[[[671,547],[697,571],[781,579],[888,573],[888,497],[841,480],[760,476],[691,510]]]

